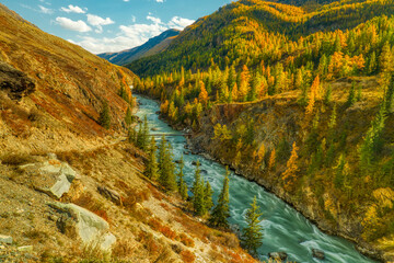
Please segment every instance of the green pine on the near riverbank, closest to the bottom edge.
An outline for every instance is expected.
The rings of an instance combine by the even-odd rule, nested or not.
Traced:
[[[263,244],[263,227],[259,225],[262,215],[255,196],[251,208],[246,211],[247,227],[243,229],[242,235],[243,247],[254,256],[257,256],[257,249]]]

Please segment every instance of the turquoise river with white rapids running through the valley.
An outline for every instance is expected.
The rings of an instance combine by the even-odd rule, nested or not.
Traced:
[[[155,101],[139,95],[135,96],[140,103],[137,115],[139,117],[147,115],[150,127],[157,129],[151,133],[182,134],[159,119],[155,112],[160,110],[160,106]],[[184,148],[186,145],[185,137],[169,136],[166,139],[171,141],[174,148],[175,160],[179,159],[185,151],[188,151]],[[160,140],[160,137],[157,140]],[[216,161],[193,153],[184,155],[184,173],[188,186],[192,186],[194,179],[195,167],[192,165],[192,162],[199,160],[201,162],[201,174],[205,180],[209,180],[215,191],[213,201],[216,201],[222,187],[225,168]],[[244,215],[255,195],[264,219],[260,222],[264,228],[264,240],[262,248],[258,250],[262,260],[267,260],[269,252],[283,251],[289,255],[288,261],[297,262],[374,262],[361,255],[351,242],[322,232],[300,213],[274,194],[268,193],[254,182],[235,175],[233,172],[230,175],[230,224],[239,226],[240,229],[245,226]],[[312,258],[312,249],[324,251],[326,259],[321,261]]]

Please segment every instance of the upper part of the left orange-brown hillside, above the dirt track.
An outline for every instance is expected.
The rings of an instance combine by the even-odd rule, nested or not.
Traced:
[[[136,78],[79,46],[42,32],[0,5],[2,153],[74,149],[124,127],[121,85]],[[112,128],[99,125],[109,104]]]

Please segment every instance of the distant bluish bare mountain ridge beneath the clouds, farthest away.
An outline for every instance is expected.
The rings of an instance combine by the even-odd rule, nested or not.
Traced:
[[[103,53],[97,56],[116,65],[129,64],[139,58],[152,56],[165,50],[178,34],[179,31],[177,30],[167,30],[155,37],[150,38],[141,46],[119,53]]]

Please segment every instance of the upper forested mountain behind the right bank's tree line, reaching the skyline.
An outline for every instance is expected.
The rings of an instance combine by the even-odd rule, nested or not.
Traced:
[[[278,42],[298,42],[300,36],[320,31],[354,28],[376,14],[391,15],[393,10],[393,2],[379,0],[333,2],[312,12],[281,3],[242,0],[197,20],[160,56],[142,58],[127,67],[144,77],[181,67],[196,71],[213,64],[221,69],[231,64],[255,66],[278,48]]]

